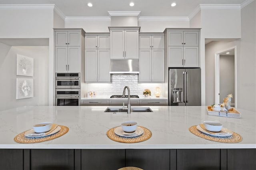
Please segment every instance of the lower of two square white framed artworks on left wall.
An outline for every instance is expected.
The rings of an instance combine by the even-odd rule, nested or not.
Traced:
[[[16,78],[16,99],[34,97],[34,79]]]

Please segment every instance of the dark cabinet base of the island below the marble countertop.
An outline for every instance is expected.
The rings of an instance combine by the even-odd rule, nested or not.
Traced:
[[[256,149],[0,149],[0,170],[255,170]]]

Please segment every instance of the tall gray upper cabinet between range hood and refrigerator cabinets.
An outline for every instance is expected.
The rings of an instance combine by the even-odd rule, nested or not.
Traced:
[[[164,82],[164,35],[140,34],[139,47],[139,82]]]

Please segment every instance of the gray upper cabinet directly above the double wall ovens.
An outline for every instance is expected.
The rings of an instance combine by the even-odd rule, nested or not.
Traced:
[[[55,72],[80,73],[82,54],[81,40],[84,38],[84,30],[55,29],[54,33]]]

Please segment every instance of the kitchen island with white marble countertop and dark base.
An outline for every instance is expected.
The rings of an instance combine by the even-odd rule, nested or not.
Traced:
[[[255,112],[236,108],[242,114],[236,119],[210,116],[206,106],[150,106],[152,113],[131,114],[104,113],[107,107],[25,106],[1,111],[0,167],[118,169],[140,166],[143,169],[238,170],[256,167]],[[152,132],[151,138],[131,144],[108,138],[106,132],[110,128],[129,120],[148,128]],[[214,142],[188,130],[206,120],[219,121],[223,127],[240,134],[243,140],[239,143]],[[17,134],[45,121],[66,126],[69,131],[64,136],[41,143],[14,141]],[[12,156],[17,164],[9,165],[8,160],[4,161],[4,155]]]

